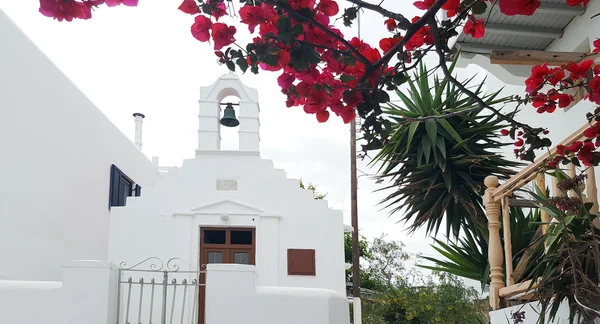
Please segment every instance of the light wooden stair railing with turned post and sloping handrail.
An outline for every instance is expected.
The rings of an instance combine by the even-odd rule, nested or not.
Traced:
[[[590,127],[590,124],[585,124],[579,130],[571,134],[560,145],[568,146],[575,141],[581,141],[587,139],[584,136],[584,131]],[[509,297],[521,299],[530,298],[534,296],[535,285],[531,285],[530,281],[516,283],[513,278],[513,255],[511,247],[511,233],[510,233],[510,205],[509,196],[515,191],[519,190],[532,180],[536,180],[536,185],[545,192],[546,188],[546,175],[544,173],[544,166],[546,163],[553,158],[556,152],[556,147],[551,149],[546,154],[540,156],[535,160],[534,163],[527,166],[521,172],[515,174],[510,179],[505,181],[502,185],[499,185],[498,178],[496,176],[488,176],[485,178],[485,194],[483,202],[485,205],[485,211],[488,217],[488,230],[489,230],[489,246],[488,246],[488,257],[490,263],[490,306],[493,310],[500,308],[501,300]],[[572,163],[568,165],[566,170],[567,174],[571,177],[575,176],[576,169]],[[596,175],[594,168],[588,168],[586,170],[587,180],[584,198],[587,202],[593,202],[594,205],[590,211],[592,214],[598,213],[598,189],[596,187]],[[573,192],[564,193],[558,189],[557,180],[555,177],[552,178],[552,186],[550,190],[551,196],[564,196],[574,195]],[[504,224],[504,253],[502,251],[502,242],[500,240],[500,229],[502,217],[502,223]],[[541,212],[542,222],[549,223],[552,220],[544,211]],[[595,222],[596,227],[600,228],[600,224],[597,219]],[[546,231],[547,225],[544,225],[542,231]],[[526,260],[522,260],[525,261]],[[506,267],[506,278],[504,278],[504,267]]]

